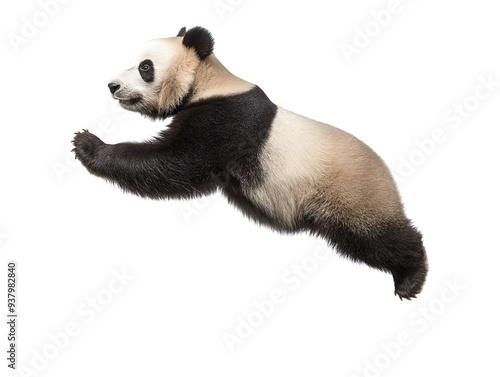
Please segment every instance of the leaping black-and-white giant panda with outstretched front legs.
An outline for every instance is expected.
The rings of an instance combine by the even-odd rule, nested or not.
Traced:
[[[193,198],[220,190],[248,217],[281,232],[310,232],[357,262],[389,272],[395,294],[422,289],[427,257],[382,159],[351,134],[275,105],[231,74],[201,27],[146,43],[108,84],[120,105],[171,117],[145,142],[73,139],[91,174],[142,197]]]

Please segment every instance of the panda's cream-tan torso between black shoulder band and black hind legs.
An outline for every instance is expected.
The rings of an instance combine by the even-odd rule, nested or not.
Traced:
[[[285,229],[299,227],[304,215],[335,217],[363,228],[400,212],[382,160],[333,126],[278,107],[259,160],[262,183],[243,192]],[[365,224],[356,225],[359,219]]]

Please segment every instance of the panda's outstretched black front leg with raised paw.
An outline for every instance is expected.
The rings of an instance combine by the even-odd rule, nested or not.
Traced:
[[[90,173],[136,195],[187,198],[215,189],[206,168],[161,143],[106,144],[84,130],[75,134],[73,144],[76,158]]]

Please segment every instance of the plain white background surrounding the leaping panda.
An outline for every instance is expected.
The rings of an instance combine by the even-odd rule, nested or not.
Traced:
[[[21,375],[498,374],[500,87],[470,97],[480,77],[500,81],[497,2],[401,0],[380,30],[370,12],[388,1],[219,3],[232,5],[74,0],[45,19],[37,1],[3,5],[0,312],[5,323],[17,260],[18,366],[34,371]],[[16,52],[25,18],[41,26]],[[83,128],[116,143],[165,127],[114,107],[106,85],[142,43],[196,25],[275,103],[353,133],[395,174],[416,162],[399,188],[429,255],[418,299],[400,301],[390,275],[335,253],[314,265],[317,240],[262,228],[220,195],[143,200],[73,160]],[[373,37],[349,62],[341,44],[367,26]],[[444,121],[464,101],[474,111]],[[436,132],[446,141],[419,152]],[[293,290],[282,275],[303,263],[311,273]],[[113,271],[133,279],[120,285]],[[258,320],[254,301],[274,290],[284,302],[230,352],[224,334]],[[5,324],[0,334],[5,355]]]

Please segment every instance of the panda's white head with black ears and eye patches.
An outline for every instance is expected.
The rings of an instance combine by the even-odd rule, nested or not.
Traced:
[[[133,66],[111,80],[109,90],[123,108],[165,119],[188,101],[196,69],[213,47],[210,32],[201,27],[149,41]]]

